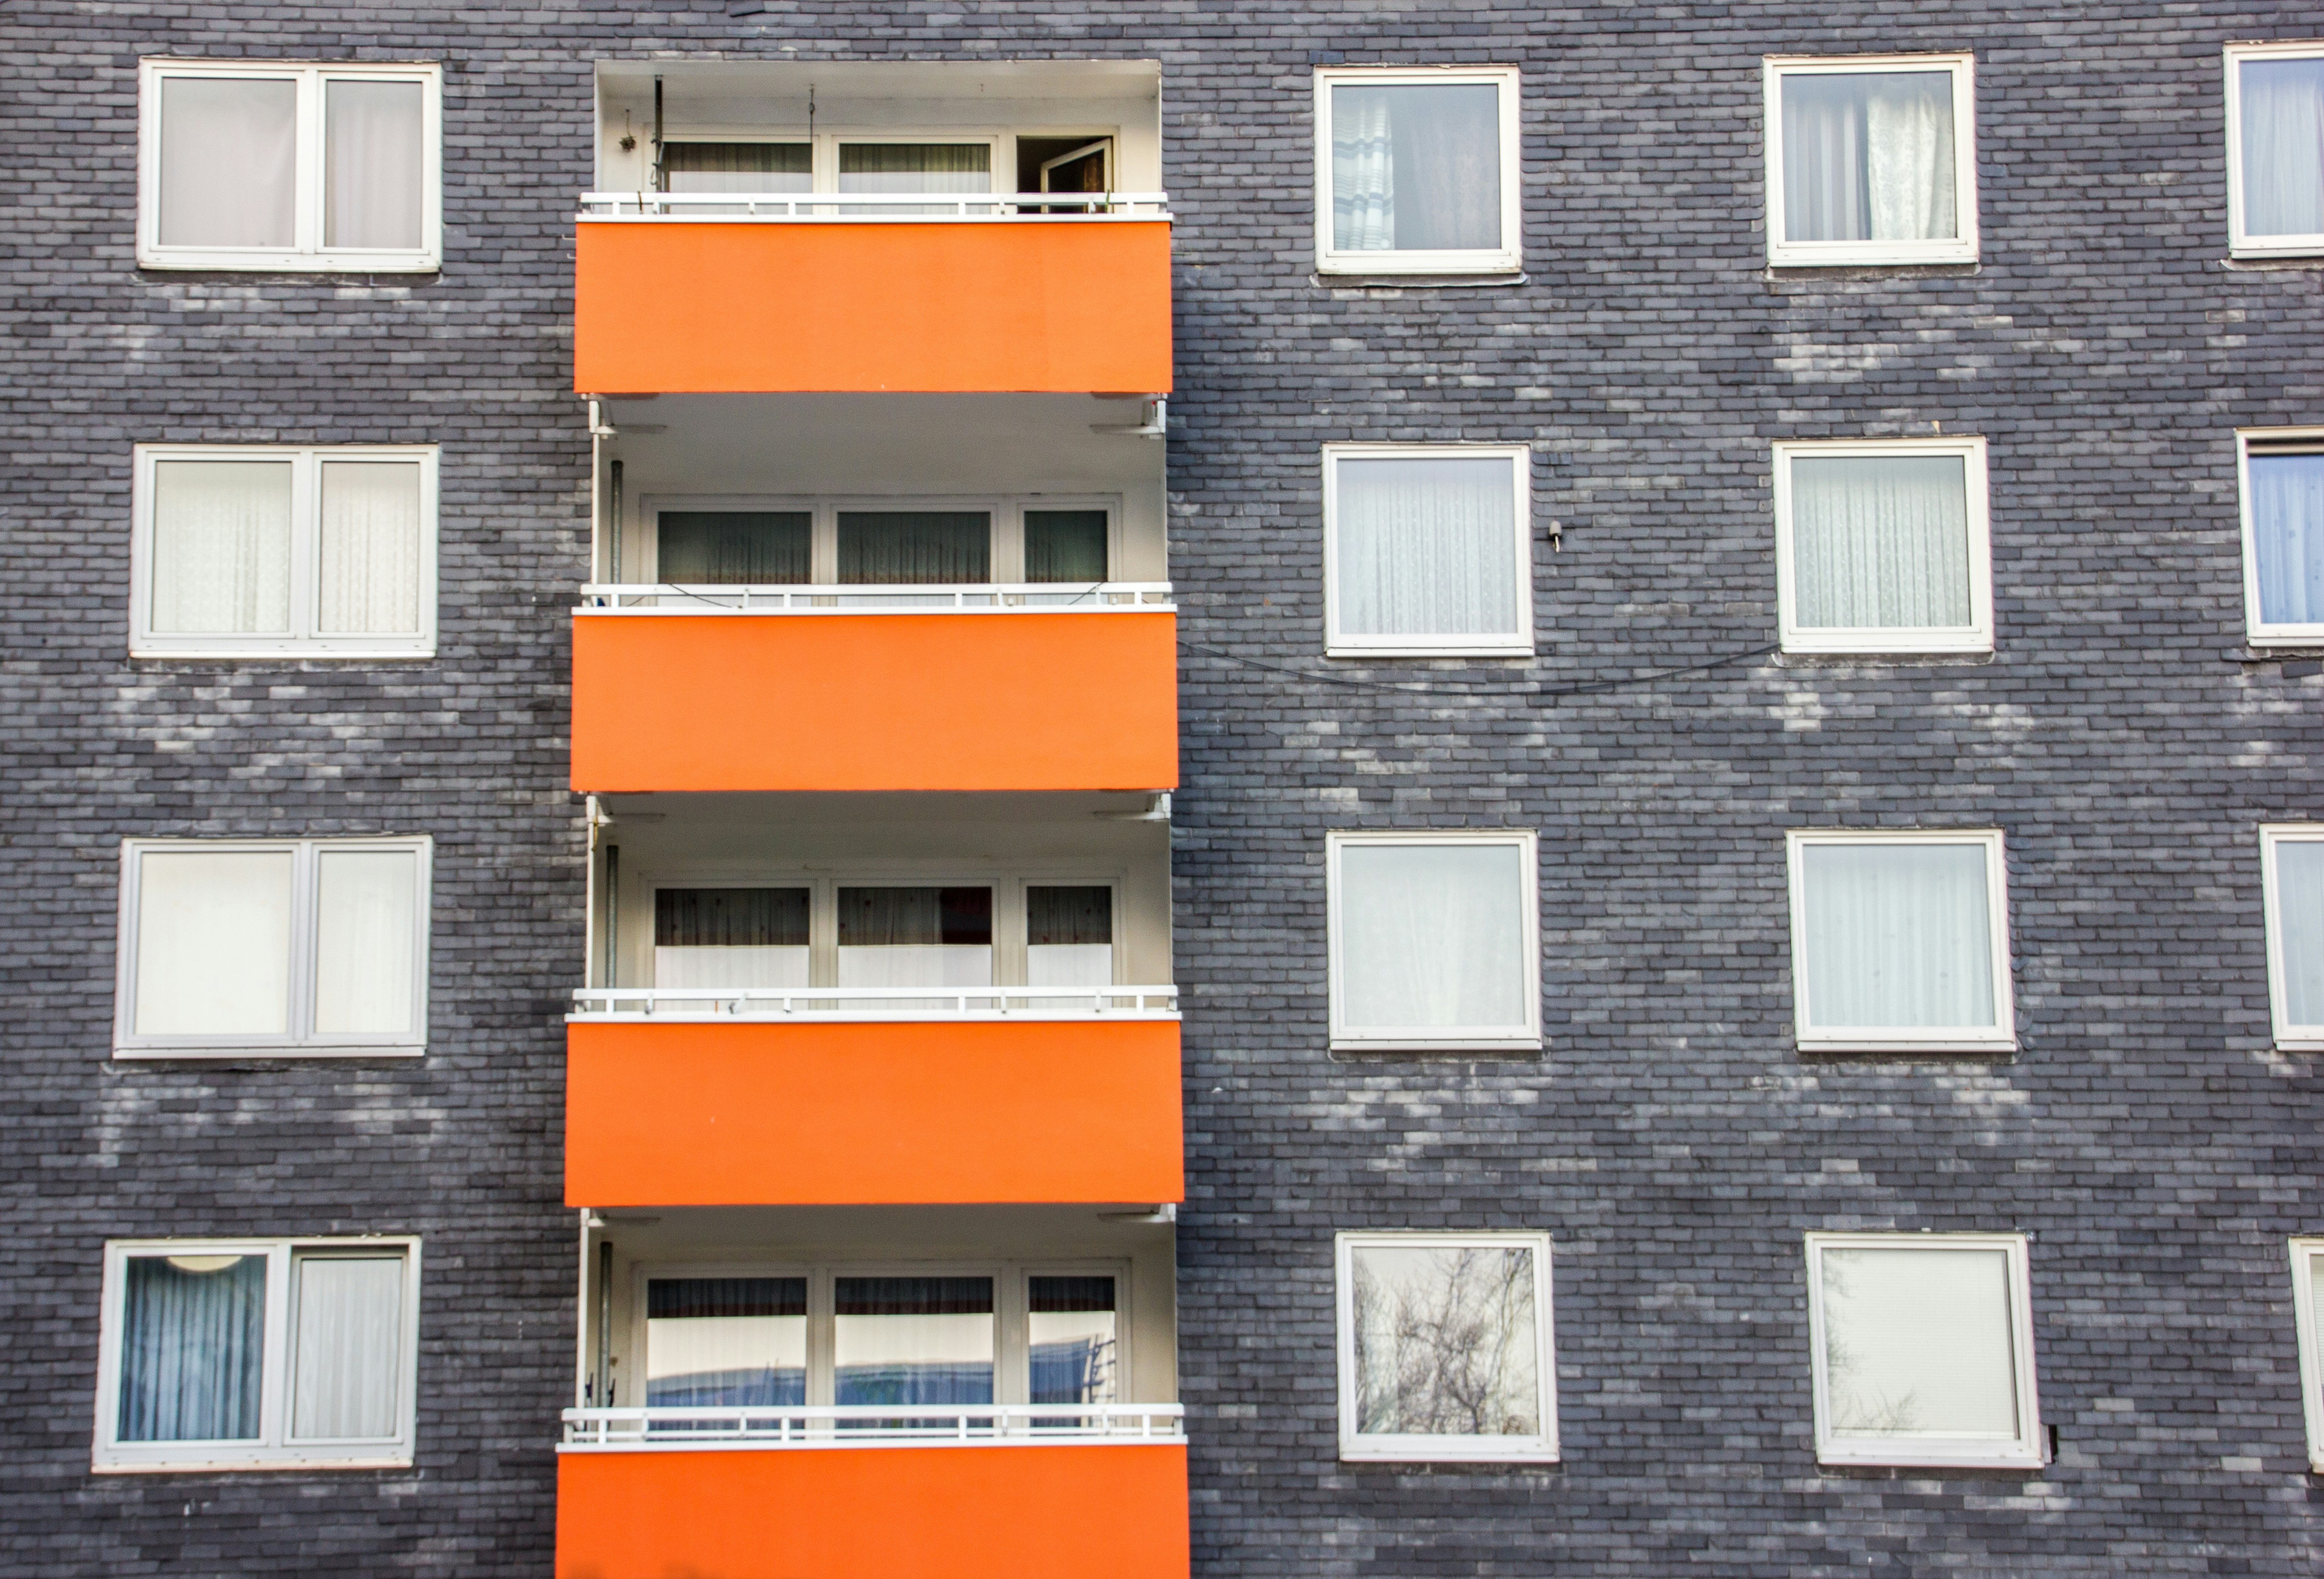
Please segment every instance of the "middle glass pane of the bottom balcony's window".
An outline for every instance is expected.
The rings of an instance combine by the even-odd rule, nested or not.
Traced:
[[[990,1277],[832,1281],[841,1405],[992,1402]]]

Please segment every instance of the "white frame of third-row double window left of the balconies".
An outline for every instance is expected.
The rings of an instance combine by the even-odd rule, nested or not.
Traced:
[[[137,909],[146,853],[290,853],[290,1030],[284,1035],[142,1035],[137,1033]],[[318,858],[323,853],[395,851],[418,858],[411,937],[411,1030],[323,1035],[314,1030]],[[428,921],[435,844],[428,835],[379,839],[121,839],[121,933],[114,981],[114,1058],[418,1058],[428,1051]]]

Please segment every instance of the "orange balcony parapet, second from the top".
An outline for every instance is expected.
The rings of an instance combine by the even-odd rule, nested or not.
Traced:
[[[1160,791],[1178,616],[576,614],[574,788]]]

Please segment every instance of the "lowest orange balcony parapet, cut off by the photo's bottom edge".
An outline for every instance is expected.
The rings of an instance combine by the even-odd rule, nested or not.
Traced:
[[[558,1579],[1188,1579],[1185,1444],[558,1456]]]

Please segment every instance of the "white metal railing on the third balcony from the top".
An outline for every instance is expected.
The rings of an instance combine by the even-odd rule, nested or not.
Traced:
[[[1174,1021],[1176,986],[583,986],[572,1021]]]

